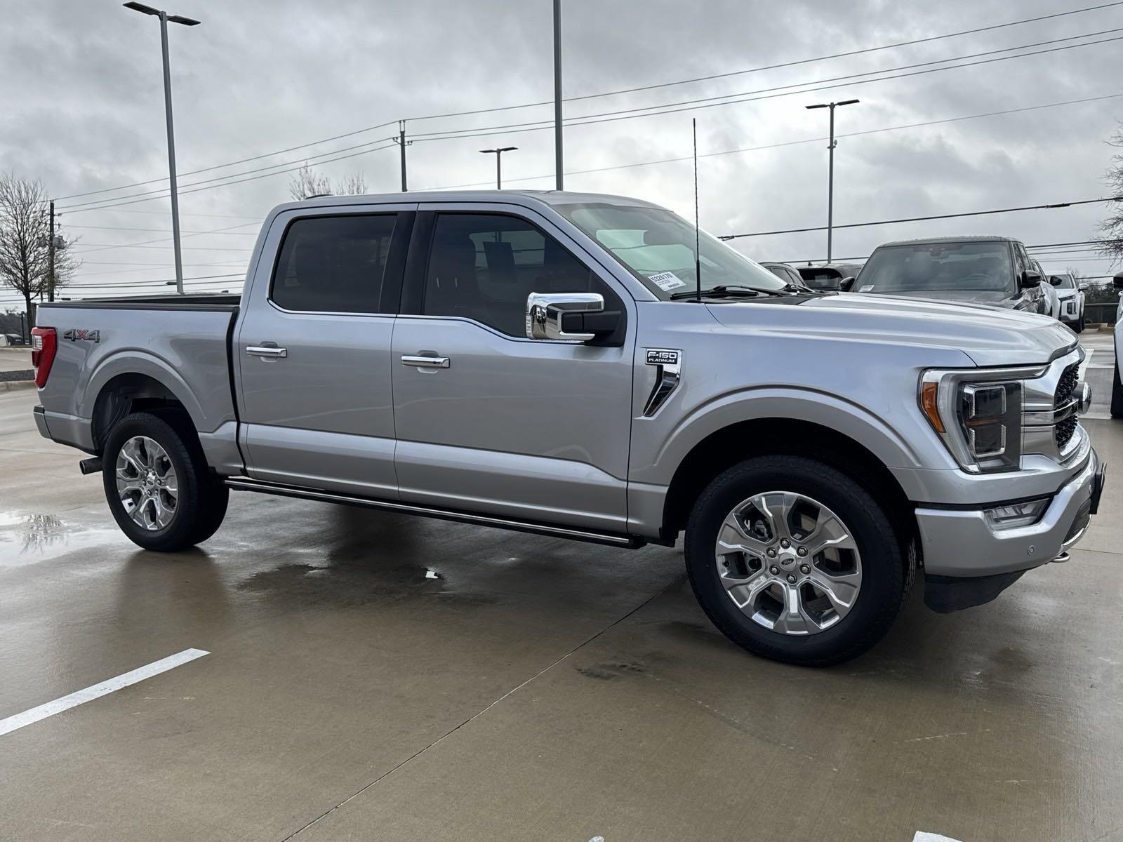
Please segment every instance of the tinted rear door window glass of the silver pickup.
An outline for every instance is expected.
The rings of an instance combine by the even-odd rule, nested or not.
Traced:
[[[377,313],[395,213],[305,217],[285,231],[271,299],[285,310]]]

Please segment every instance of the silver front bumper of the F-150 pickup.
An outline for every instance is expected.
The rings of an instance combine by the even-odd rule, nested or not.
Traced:
[[[977,578],[1052,561],[1084,536],[1099,502],[1104,472],[1095,449],[1089,448],[1085,467],[1053,495],[1041,520],[1028,527],[997,530],[982,507],[919,507],[925,576]]]

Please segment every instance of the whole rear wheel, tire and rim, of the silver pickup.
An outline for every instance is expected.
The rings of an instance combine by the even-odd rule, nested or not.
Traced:
[[[102,455],[109,511],[129,540],[171,552],[210,538],[229,489],[210,475],[202,449],[176,412],[137,412],[117,424]]]

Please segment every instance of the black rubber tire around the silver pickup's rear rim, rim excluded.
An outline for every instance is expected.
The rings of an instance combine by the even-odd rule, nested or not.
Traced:
[[[133,520],[117,493],[117,457],[125,443],[144,436],[155,441],[175,469],[177,491],[171,521],[145,529]],[[117,525],[138,547],[173,552],[210,538],[226,516],[229,489],[207,469],[199,440],[182,412],[136,412],[109,434],[102,452],[102,484]]]

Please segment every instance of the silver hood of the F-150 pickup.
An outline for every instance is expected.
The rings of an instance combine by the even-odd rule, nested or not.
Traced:
[[[1076,345],[1054,319],[982,304],[846,292],[798,304],[763,302],[711,304],[710,312],[730,328],[961,351],[977,366],[1044,364]]]

